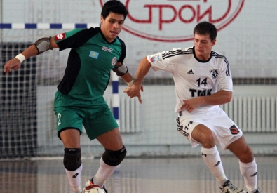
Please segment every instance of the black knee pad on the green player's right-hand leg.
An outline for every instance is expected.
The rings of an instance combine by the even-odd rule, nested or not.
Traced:
[[[102,155],[102,159],[105,164],[109,166],[118,166],[121,161],[123,161],[124,157],[126,156],[126,148],[123,147],[118,151],[112,151],[109,149],[105,149],[105,152]]]

